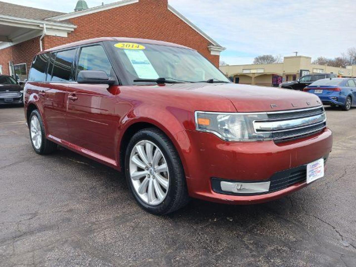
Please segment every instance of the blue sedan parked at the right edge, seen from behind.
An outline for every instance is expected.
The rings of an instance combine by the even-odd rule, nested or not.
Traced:
[[[319,96],[324,105],[341,106],[343,110],[356,106],[356,79],[321,79],[305,87],[304,91]]]

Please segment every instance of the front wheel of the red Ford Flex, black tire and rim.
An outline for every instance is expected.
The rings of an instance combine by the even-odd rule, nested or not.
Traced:
[[[178,152],[158,129],[144,129],[131,138],[126,150],[125,172],[133,197],[152,214],[172,213],[189,201]]]

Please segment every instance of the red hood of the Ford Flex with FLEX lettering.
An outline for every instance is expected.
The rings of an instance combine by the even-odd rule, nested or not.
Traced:
[[[229,99],[238,112],[280,111],[320,106],[314,94],[275,87],[244,84],[167,84],[172,89],[188,90],[195,94],[210,94]]]

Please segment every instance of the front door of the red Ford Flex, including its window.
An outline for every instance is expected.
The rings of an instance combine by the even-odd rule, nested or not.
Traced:
[[[101,44],[81,47],[76,64],[75,76],[80,70],[101,70],[115,77]],[[66,97],[69,142],[112,164],[116,159],[115,134],[119,124],[114,110],[116,90],[117,85],[78,84],[74,81],[70,83]]]

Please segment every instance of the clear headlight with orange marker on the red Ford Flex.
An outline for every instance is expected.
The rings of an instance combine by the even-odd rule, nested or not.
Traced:
[[[253,121],[268,119],[266,113],[217,113],[195,111],[196,130],[210,132],[225,141],[251,142],[272,140],[272,133],[256,133]]]

